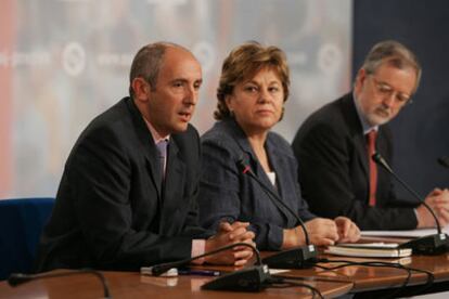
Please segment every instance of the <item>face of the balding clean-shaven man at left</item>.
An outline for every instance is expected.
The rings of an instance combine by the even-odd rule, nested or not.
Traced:
[[[162,136],[187,130],[202,81],[200,63],[191,53],[166,49],[157,83],[146,103],[149,120]]]

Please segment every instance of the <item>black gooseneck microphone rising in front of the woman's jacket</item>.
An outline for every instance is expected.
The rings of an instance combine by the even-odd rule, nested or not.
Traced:
[[[248,174],[249,178],[255,180],[264,192],[268,195],[268,197],[273,202],[274,205],[280,204],[284,209],[286,209],[296,221],[299,223],[300,227],[304,231],[304,236],[306,239],[306,246],[295,247],[288,250],[282,250],[278,253],[274,253],[270,257],[267,257],[262,260],[264,263],[268,264],[271,268],[280,268],[280,269],[304,269],[312,266],[317,261],[317,249],[312,244],[310,244],[309,235],[306,230],[306,225],[304,224],[303,220],[287,206],[284,202],[279,197],[277,193],[274,193],[271,188],[269,188],[264,182],[257,178],[257,176],[253,172],[251,167],[245,162],[245,159],[242,157],[239,160],[239,166],[242,169],[243,174]]]

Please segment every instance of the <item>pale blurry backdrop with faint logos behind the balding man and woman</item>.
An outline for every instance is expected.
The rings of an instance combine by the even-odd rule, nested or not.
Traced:
[[[202,62],[201,132],[228,52],[247,40],[282,48],[292,92],[275,130],[291,140],[349,88],[350,15],[350,0],[2,0],[0,198],[54,196],[76,138],[127,95],[132,56],[156,40]]]

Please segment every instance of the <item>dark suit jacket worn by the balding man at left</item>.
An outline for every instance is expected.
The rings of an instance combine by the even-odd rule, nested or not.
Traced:
[[[162,191],[157,148],[133,101],[97,117],[65,165],[37,270],[138,270],[189,258],[192,238],[205,235],[197,226],[200,155],[193,127],[172,134]]]

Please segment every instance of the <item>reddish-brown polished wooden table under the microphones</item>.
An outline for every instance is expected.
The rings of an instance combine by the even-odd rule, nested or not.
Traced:
[[[269,253],[265,253],[269,255]],[[333,260],[367,261],[346,257],[322,258]],[[375,259],[382,261],[402,262],[406,266],[422,269],[435,275],[435,282],[449,282],[449,253],[438,256],[412,256],[406,259]],[[325,263],[323,265],[332,265]],[[233,271],[231,266],[202,266],[219,271]],[[268,288],[261,292],[230,292],[201,290],[201,285],[213,280],[204,276],[179,276],[175,278],[152,277],[136,272],[102,272],[114,298],[292,298],[311,297],[307,288]],[[325,271],[319,268],[292,270],[282,275],[303,278],[318,288],[326,298],[337,297],[347,292],[362,292],[382,290],[400,286],[407,273],[400,269],[370,268],[350,265],[339,270]],[[409,286],[422,285],[427,276],[423,273],[413,273]],[[0,298],[98,298],[102,297],[100,281],[91,274],[73,275],[66,277],[47,278],[29,282],[18,287],[10,287],[7,282],[0,283]]]

